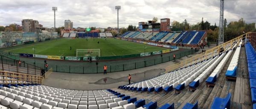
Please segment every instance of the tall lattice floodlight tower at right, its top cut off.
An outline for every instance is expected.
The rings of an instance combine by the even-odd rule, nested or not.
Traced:
[[[224,43],[224,0],[220,0],[220,22],[219,22],[219,36],[218,45]]]

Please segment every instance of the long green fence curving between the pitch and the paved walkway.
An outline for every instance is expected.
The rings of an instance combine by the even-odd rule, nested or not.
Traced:
[[[160,64],[167,61],[173,60],[173,54],[175,54],[175,59],[179,59],[183,56],[190,55],[195,53],[195,50],[184,50],[176,53],[166,53],[159,54],[157,56],[145,56],[134,59],[120,59],[114,61],[93,61],[90,64],[86,62],[84,65],[65,65],[64,61],[61,64],[48,64],[49,68],[52,68],[55,72],[64,72],[64,73],[103,73],[103,66],[106,64],[108,67],[107,72],[117,72],[117,71],[125,71],[125,70],[133,70],[142,67],[148,67],[156,64]],[[116,57],[111,56],[113,59]],[[70,61],[74,62],[74,61]],[[79,63],[79,62],[77,62]],[[84,63],[84,62],[81,62]],[[98,64],[96,64],[98,63]]]

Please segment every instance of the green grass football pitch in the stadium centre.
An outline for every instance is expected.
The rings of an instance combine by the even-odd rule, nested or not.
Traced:
[[[97,43],[99,41],[99,44]],[[70,50],[70,46],[72,50]],[[166,50],[166,48],[144,45],[140,43],[124,41],[119,39],[54,39],[45,42],[36,42],[27,45],[18,45],[10,48],[0,49],[1,51],[14,53],[29,53],[52,56],[76,56],[76,49],[100,49],[101,56],[119,56]]]

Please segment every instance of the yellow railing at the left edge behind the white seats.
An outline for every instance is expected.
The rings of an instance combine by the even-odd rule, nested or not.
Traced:
[[[42,76],[0,71],[0,84],[41,84]]]

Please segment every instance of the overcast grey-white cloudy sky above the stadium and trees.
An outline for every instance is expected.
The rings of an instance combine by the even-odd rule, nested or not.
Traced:
[[[17,23],[22,19],[38,20],[44,27],[54,26],[52,6],[58,7],[56,27],[64,20],[73,21],[74,27],[117,27],[115,6],[120,5],[119,27],[138,25],[153,17],[170,18],[171,22],[187,20],[190,24],[201,21],[212,25],[219,20],[219,0],[0,0],[0,25]],[[256,0],[225,0],[224,18],[247,23],[256,22]]]

